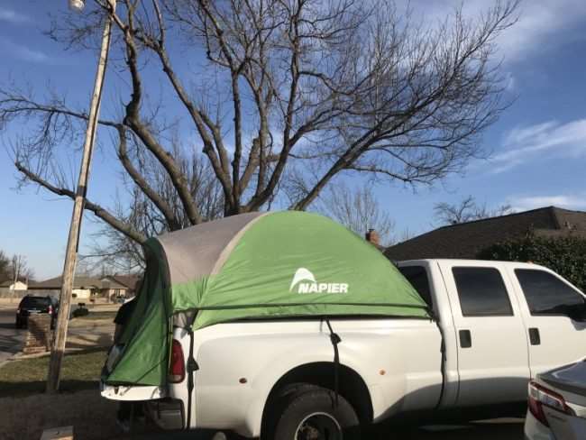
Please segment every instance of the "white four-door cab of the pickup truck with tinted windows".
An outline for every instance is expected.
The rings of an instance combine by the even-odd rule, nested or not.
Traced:
[[[445,344],[442,406],[524,401],[528,380],[586,356],[584,295],[531,263],[400,261]]]

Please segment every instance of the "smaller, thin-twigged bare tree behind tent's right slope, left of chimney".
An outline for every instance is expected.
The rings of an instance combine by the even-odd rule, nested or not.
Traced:
[[[380,206],[371,186],[351,189],[343,183],[333,184],[320,197],[316,210],[362,236],[374,229],[383,246],[394,242],[395,222]]]

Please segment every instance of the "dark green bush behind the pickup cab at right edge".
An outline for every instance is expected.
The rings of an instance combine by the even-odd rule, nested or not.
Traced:
[[[586,239],[567,235],[547,238],[530,233],[479,252],[482,260],[531,261],[559,273],[586,292]]]

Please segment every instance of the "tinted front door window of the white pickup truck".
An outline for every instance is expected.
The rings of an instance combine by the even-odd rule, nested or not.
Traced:
[[[584,304],[576,290],[545,270],[516,269],[515,275],[532,315],[562,314],[564,307]]]

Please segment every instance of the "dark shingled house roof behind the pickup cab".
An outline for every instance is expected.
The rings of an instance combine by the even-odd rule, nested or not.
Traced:
[[[554,237],[574,234],[586,238],[586,212],[546,206],[458,225],[447,225],[390,246],[390,260],[476,258],[492,244],[519,238],[529,231]]]

